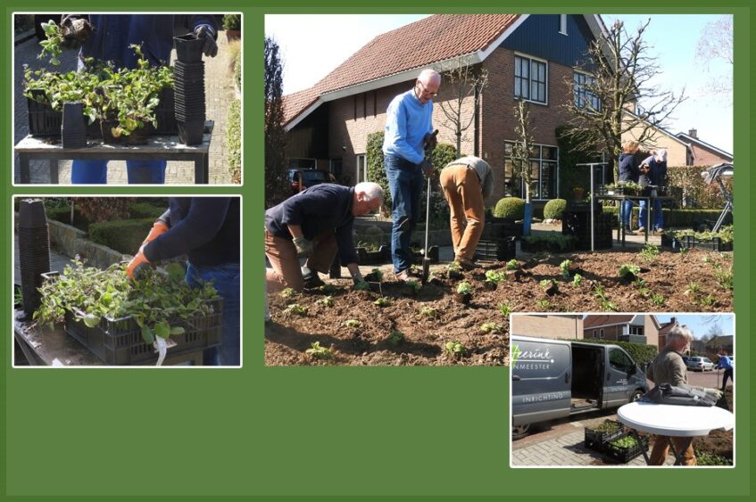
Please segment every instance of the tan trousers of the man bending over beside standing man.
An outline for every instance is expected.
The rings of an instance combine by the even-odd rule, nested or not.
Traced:
[[[444,168],[440,181],[451,211],[454,255],[457,259],[473,259],[486,221],[478,175],[475,169],[458,164]]]

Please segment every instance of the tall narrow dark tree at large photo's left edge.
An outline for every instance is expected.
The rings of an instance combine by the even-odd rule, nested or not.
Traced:
[[[287,133],[284,128],[283,62],[278,43],[265,37],[265,207],[286,198]]]

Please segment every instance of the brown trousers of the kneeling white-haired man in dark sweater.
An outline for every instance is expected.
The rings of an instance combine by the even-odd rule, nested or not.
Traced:
[[[338,245],[333,232],[321,234],[312,239],[312,256],[304,263],[305,267],[326,273],[331,267]],[[302,269],[296,256],[296,247],[289,239],[276,237],[265,230],[265,256],[270,260],[270,268],[265,271],[268,292],[279,292],[284,288],[302,291]]]

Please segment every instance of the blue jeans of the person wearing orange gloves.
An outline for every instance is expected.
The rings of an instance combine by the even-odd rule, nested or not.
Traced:
[[[241,360],[241,330],[239,324],[241,268],[238,263],[212,267],[199,267],[189,263],[187,284],[195,288],[212,282],[223,299],[223,328],[220,347],[204,351],[204,364],[208,366],[239,366]]]

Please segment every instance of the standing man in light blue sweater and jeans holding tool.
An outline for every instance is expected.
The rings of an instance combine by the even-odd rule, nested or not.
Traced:
[[[441,75],[436,70],[423,70],[415,86],[397,95],[386,111],[383,154],[394,219],[391,259],[400,281],[411,279],[410,239],[420,217],[423,173],[433,173],[433,166],[425,159],[425,147],[436,146],[433,98],[440,86]]]

